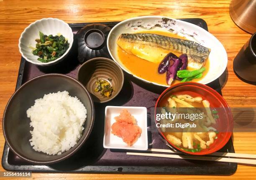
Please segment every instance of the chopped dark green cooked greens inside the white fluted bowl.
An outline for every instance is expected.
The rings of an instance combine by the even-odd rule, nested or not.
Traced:
[[[61,57],[69,48],[67,38],[63,35],[44,35],[39,31],[40,39],[36,39],[36,48],[33,48],[33,55],[39,56],[37,59],[43,63],[54,61]]]

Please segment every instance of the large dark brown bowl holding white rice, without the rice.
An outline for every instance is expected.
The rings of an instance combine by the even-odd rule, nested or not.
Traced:
[[[87,109],[82,137],[76,145],[61,155],[47,155],[33,150],[29,139],[32,130],[26,111],[33,106],[35,99],[44,94],[68,91],[70,96],[77,98]],[[51,104],[49,104],[51,106]],[[76,79],[63,74],[46,74],[38,76],[23,84],[11,96],[3,115],[3,134],[10,149],[22,159],[33,164],[52,164],[72,156],[88,139],[94,123],[94,104],[87,89]]]

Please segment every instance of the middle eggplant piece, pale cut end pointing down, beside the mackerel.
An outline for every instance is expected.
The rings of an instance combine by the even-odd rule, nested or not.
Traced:
[[[175,56],[175,55],[174,55]],[[172,81],[176,79],[177,71],[179,70],[180,64],[182,63],[182,60],[180,58],[172,57],[170,59],[170,65],[166,72],[166,82],[168,85],[172,84]]]

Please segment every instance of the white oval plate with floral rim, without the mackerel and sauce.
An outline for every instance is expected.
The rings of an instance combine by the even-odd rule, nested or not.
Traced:
[[[113,60],[118,63],[124,71],[128,74],[133,75],[134,77],[141,79],[142,81],[169,87],[167,84],[158,84],[156,82],[147,81],[139,76],[133,74],[128,68],[126,68],[123,63],[120,61],[118,54],[117,54],[117,39],[120,34],[122,33],[139,33],[141,30],[157,30],[157,31],[164,31],[170,33],[177,33],[180,36],[186,36],[187,39],[190,41],[196,41],[200,43],[202,46],[211,49],[209,54],[209,61],[210,61],[210,68],[208,73],[198,81],[201,84],[208,84],[215,79],[217,79],[227,67],[228,63],[228,56],[225,51],[225,48],[220,43],[220,41],[215,38],[211,33],[203,28],[200,28],[197,25],[192,23],[187,23],[182,20],[176,20],[172,18],[167,18],[170,24],[166,27],[161,20],[163,16],[141,16],[136,18],[131,18],[128,20],[124,20],[117,25],[110,31],[108,35],[107,45],[108,51],[113,58]],[[163,26],[163,27],[162,27]],[[173,32],[174,31],[174,32]],[[146,67],[145,67],[146,68]],[[157,70],[156,70],[157,71]]]

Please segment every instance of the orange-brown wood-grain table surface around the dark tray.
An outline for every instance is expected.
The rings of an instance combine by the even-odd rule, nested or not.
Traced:
[[[233,59],[250,34],[236,26],[229,15],[229,0],[0,0],[0,117],[15,91],[20,65],[18,39],[30,23],[41,18],[59,18],[67,23],[120,21],[141,15],[162,15],[172,18],[202,18],[210,33],[228,53],[228,66],[220,77],[223,97],[231,107],[255,107],[256,86],[246,84],[233,72]],[[5,139],[0,127],[0,155]],[[256,154],[256,133],[233,133],[238,153]],[[3,167],[0,171],[4,171]],[[33,179],[255,179],[256,167],[238,165],[231,176],[188,175],[111,175],[33,173]],[[24,178],[25,179],[25,178]]]

